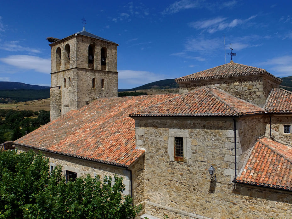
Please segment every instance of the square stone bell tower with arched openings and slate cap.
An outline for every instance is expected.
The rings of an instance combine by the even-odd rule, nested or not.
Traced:
[[[51,121],[87,101],[117,97],[117,46],[83,27],[51,46]]]

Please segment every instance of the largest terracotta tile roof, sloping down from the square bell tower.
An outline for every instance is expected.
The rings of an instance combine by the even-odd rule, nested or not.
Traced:
[[[129,166],[144,151],[135,149],[131,112],[178,94],[101,98],[14,141],[54,153]]]

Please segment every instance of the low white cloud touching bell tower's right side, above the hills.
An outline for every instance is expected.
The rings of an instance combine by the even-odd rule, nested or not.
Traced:
[[[121,88],[134,88],[168,78],[149,71],[119,70],[118,72],[118,83]]]

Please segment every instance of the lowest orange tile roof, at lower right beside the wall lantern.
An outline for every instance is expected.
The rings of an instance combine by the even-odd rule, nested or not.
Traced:
[[[292,190],[292,148],[258,139],[244,170],[235,180],[252,185]]]

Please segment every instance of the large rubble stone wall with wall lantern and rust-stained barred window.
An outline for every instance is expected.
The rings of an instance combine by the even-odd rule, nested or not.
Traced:
[[[238,162],[243,162],[254,139],[265,131],[264,127],[255,128],[265,118],[245,119],[239,119],[241,124],[236,132]],[[173,133],[186,138],[184,162],[170,159],[169,139]],[[235,176],[232,119],[136,120],[136,143],[146,149],[147,214],[163,218],[166,213],[178,219],[289,218],[292,214],[290,194],[277,190],[263,192],[257,187],[232,183]],[[211,180],[208,173],[211,165],[216,169],[217,181]]]

